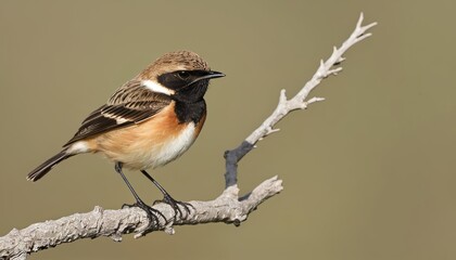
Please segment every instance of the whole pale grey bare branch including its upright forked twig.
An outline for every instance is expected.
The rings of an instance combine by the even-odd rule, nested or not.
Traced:
[[[245,221],[249,213],[257,208],[263,202],[278,194],[283,187],[277,177],[268,179],[255,187],[251,193],[239,196],[238,188],[238,162],[255,146],[256,142],[268,134],[279,131],[275,126],[290,112],[305,109],[308,105],[324,101],[322,98],[312,98],[306,101],[311,91],[319,82],[337,75],[342,67],[334,67],[345,58],[342,55],[355,43],[371,36],[366,31],[377,23],[362,26],[363,13],[356,24],[355,30],[350,38],[338,48],[333,48],[331,56],[320,65],[305,86],[296,95],[288,100],[286,90],[280,91],[279,103],[273,114],[255,129],[237,148],[225,153],[226,188],[219,197],[211,202],[190,202],[193,206],[191,212],[185,218],[173,218],[174,211],[166,204],[154,205],[153,208],[163,213],[157,226],[149,226],[149,220],[143,210],[132,207],[118,210],[104,210],[96,207],[91,212],[75,213],[59,220],[51,220],[31,224],[23,230],[12,230],[5,236],[0,237],[1,259],[26,259],[35,251],[54,247],[62,243],[71,243],[81,238],[96,238],[107,236],[114,240],[122,240],[122,235],[134,233],[140,237],[153,231],[164,231],[174,234],[174,225],[202,224],[210,222],[225,222],[239,225]],[[185,210],[182,210],[185,212]]]

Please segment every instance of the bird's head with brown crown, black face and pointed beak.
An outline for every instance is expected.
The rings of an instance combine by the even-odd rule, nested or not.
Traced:
[[[154,92],[191,103],[203,99],[210,79],[224,76],[223,73],[211,70],[197,53],[177,51],[157,58],[137,78]]]

